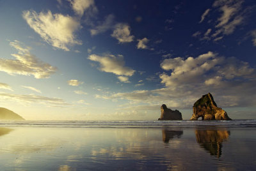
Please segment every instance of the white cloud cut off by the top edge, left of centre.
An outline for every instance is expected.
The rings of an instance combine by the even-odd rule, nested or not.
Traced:
[[[94,0],[68,0],[71,3],[72,9],[80,17],[83,16],[84,11],[91,10],[93,13],[96,13],[97,7],[94,4]]]

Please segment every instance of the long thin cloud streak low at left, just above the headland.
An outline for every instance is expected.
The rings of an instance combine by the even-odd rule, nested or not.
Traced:
[[[0,92],[0,100],[10,100],[19,103],[40,103],[45,105],[68,105],[60,98],[49,98],[35,94],[10,94]]]

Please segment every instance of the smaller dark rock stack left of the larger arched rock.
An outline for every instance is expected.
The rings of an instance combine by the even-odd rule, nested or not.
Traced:
[[[166,105],[161,106],[161,117],[158,121],[177,121],[182,120],[182,115],[179,110],[172,110]]]

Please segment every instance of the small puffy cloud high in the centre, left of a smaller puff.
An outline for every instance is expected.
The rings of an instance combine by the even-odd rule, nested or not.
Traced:
[[[116,24],[113,34],[111,34],[111,36],[113,38],[116,38],[119,43],[131,42],[134,39],[134,36],[131,35],[130,26],[124,23]]]

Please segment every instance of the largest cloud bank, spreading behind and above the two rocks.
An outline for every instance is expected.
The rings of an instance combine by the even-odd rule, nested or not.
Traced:
[[[255,69],[236,57],[223,57],[207,52],[198,57],[164,59],[161,73],[165,87],[127,93],[97,96],[106,100],[128,100],[129,104],[158,106],[165,103],[172,108],[191,108],[191,104],[211,92],[221,107],[255,106]]]

